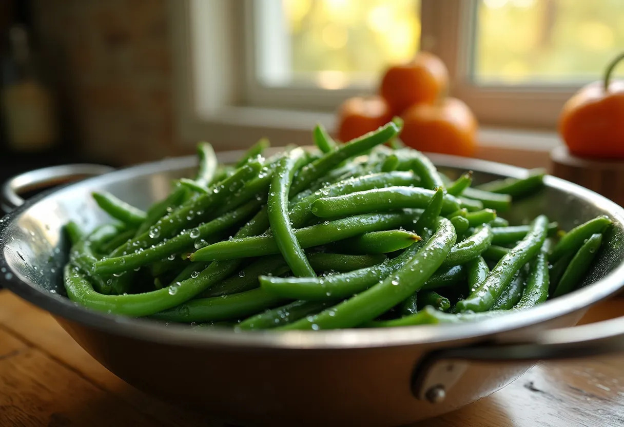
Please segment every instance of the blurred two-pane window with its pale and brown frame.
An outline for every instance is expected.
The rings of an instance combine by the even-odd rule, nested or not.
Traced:
[[[341,101],[418,49],[442,58],[451,96],[482,124],[553,130],[624,46],[622,0],[171,0],[170,12],[182,137],[209,124],[228,147],[260,133],[309,143],[315,122],[331,127]]]

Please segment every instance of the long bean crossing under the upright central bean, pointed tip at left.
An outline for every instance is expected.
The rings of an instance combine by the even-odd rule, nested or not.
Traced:
[[[356,235],[388,230],[409,223],[414,219],[411,213],[364,214],[324,222],[295,230],[295,236],[303,248],[326,245]],[[191,254],[192,261],[219,261],[246,257],[257,257],[280,252],[271,236],[235,238],[201,248]]]

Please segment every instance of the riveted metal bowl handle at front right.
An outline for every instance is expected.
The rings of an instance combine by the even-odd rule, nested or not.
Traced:
[[[624,317],[582,326],[520,331],[487,343],[433,351],[420,360],[412,375],[412,393],[437,403],[456,383],[469,362],[530,363],[605,355],[624,351]]]

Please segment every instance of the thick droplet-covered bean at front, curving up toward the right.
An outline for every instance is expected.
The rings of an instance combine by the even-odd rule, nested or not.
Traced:
[[[455,239],[455,229],[451,222],[446,218],[438,218],[436,232],[429,241],[400,270],[386,277],[382,283],[318,315],[280,326],[279,329],[348,328],[373,320],[422,288],[427,278],[440,267]]]

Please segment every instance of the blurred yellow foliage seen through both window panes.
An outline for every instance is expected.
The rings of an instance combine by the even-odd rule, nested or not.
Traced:
[[[476,5],[470,77],[478,84],[592,81],[624,49],[624,0]],[[341,89],[376,81],[389,64],[417,52],[420,6],[419,0],[282,0],[291,76],[285,84]]]

